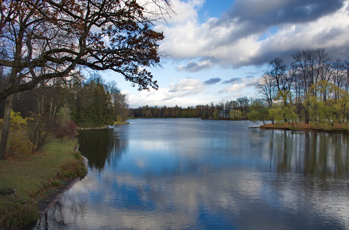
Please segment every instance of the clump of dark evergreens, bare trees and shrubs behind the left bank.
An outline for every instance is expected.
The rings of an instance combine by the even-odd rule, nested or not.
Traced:
[[[7,80],[5,74],[2,81]],[[89,77],[80,74],[79,80],[52,79],[16,95],[13,109],[18,112],[11,115],[6,157],[40,152],[52,138],[72,138],[77,125],[102,127],[127,119],[127,95],[116,82],[105,82],[95,73]]]

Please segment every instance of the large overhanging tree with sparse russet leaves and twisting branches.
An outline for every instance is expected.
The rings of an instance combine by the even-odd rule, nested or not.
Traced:
[[[34,89],[40,81],[74,76],[76,68],[111,70],[138,84],[157,89],[146,68],[159,65],[154,22],[171,11],[168,0],[4,0],[0,4],[0,66],[11,68],[0,159],[6,149],[13,95]]]

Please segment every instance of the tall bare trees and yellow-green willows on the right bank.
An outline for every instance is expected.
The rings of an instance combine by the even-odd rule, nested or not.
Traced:
[[[304,121],[330,129],[335,122],[348,122],[349,59],[333,59],[324,49],[296,52],[288,65],[275,58],[256,90],[273,123]],[[249,117],[264,118],[264,108],[251,110]]]

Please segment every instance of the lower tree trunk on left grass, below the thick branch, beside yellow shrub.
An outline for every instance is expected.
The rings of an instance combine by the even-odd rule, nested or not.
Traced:
[[[0,141],[0,160],[5,159],[7,139],[10,131],[10,116],[11,116],[11,109],[13,106],[13,97],[14,95],[11,94],[6,99],[5,113],[3,116],[2,134],[1,134],[1,141]]]

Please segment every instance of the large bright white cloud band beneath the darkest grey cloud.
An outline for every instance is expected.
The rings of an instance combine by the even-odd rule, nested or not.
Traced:
[[[177,5],[175,10],[178,9],[177,16],[170,21],[169,26],[160,25],[156,28],[164,31],[164,43],[167,44],[165,49],[170,58],[210,60],[210,66],[205,66],[207,63],[189,61],[189,68],[186,68],[188,64],[181,65],[178,67],[180,70],[199,71],[204,69],[196,68],[200,65],[211,67],[214,64],[223,67],[260,65],[275,57],[290,59],[290,54],[300,49],[325,48],[332,55],[347,54],[340,52],[349,48],[348,1],[339,10],[313,16],[309,21],[275,21],[277,31],[264,40],[258,39],[269,29],[269,25],[262,32],[248,32],[245,27],[252,27],[251,22],[246,24],[248,22],[230,18],[222,23],[224,15],[223,19],[209,18],[205,23],[199,23],[196,10],[202,2],[174,1]],[[281,4],[279,7],[285,6]],[[265,10],[275,10],[274,8]],[[255,16],[254,20],[258,20],[258,17]]]

